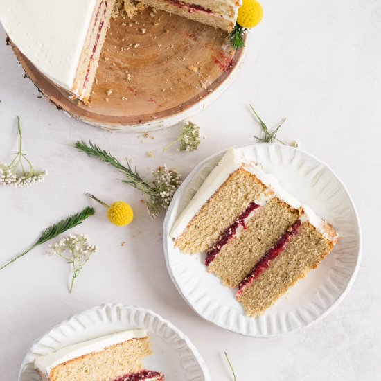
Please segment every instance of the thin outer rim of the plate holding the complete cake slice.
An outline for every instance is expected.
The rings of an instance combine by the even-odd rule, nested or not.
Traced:
[[[213,159],[216,159],[217,157],[222,156],[222,154],[224,154],[224,152],[227,152],[229,147],[228,148],[224,148],[223,150],[220,150],[220,151],[216,152],[215,154],[212,154],[211,156],[209,156],[206,159],[202,160],[199,164],[197,164],[197,166],[195,166],[195,168],[193,168],[193,170],[189,173],[189,175],[186,177],[186,179],[184,179],[184,181],[181,184],[181,186],[179,186],[179,189],[175,193],[175,196],[173,197],[172,202],[170,203],[168,211],[166,212],[166,217],[165,217],[164,222],[163,222],[163,249],[164,249],[164,256],[165,256],[165,259],[166,259],[166,267],[168,269],[168,273],[170,274],[170,278],[172,279],[172,282],[175,284],[175,287],[177,288],[177,291],[182,296],[182,298],[186,301],[186,303],[188,303],[188,305],[190,305],[190,307],[196,312],[196,314],[199,315],[200,317],[202,317],[202,319],[204,319],[206,321],[209,321],[209,323],[214,324],[215,326],[219,326],[220,328],[229,330],[229,331],[231,331],[233,333],[239,333],[240,335],[243,335],[243,336],[265,337],[265,338],[267,338],[267,337],[281,337],[281,336],[285,336],[285,335],[290,335],[291,333],[299,332],[300,330],[303,330],[303,328],[308,328],[309,326],[312,326],[312,324],[315,324],[318,321],[321,321],[322,319],[327,317],[328,314],[330,314],[330,312],[333,312],[333,310],[335,310],[335,308],[340,303],[342,303],[342,301],[344,300],[344,298],[346,297],[348,292],[351,290],[351,287],[352,287],[352,285],[353,285],[353,283],[355,281],[355,278],[356,278],[357,273],[358,273],[359,268],[360,268],[360,263],[361,263],[361,258],[362,258],[362,228],[361,228],[361,224],[360,224],[360,218],[359,218],[356,206],[355,206],[355,204],[353,202],[353,199],[351,197],[351,194],[348,192],[348,189],[344,185],[343,181],[337,176],[335,171],[332,168],[330,168],[330,166],[328,166],[328,164],[326,162],[324,162],[321,159],[315,157],[313,154],[310,154],[309,152],[306,152],[305,150],[301,150],[301,148],[295,148],[295,147],[292,147],[290,145],[281,145],[280,143],[253,143],[253,144],[233,145],[232,148],[238,148],[238,149],[240,149],[240,148],[249,148],[249,147],[254,147],[256,145],[278,145],[279,147],[287,147],[287,148],[290,148],[292,150],[297,150],[298,152],[301,152],[302,154],[305,154],[306,156],[308,156],[308,157],[314,159],[315,161],[317,161],[317,163],[319,163],[322,166],[326,167],[328,169],[328,171],[331,172],[333,177],[335,177],[335,179],[337,179],[338,183],[340,184],[340,186],[342,187],[342,189],[344,190],[344,192],[348,196],[348,200],[351,203],[351,206],[353,208],[353,213],[355,215],[355,228],[357,229],[357,238],[358,238],[357,260],[356,260],[355,268],[353,269],[353,272],[351,274],[351,278],[349,278],[348,283],[346,284],[346,287],[344,288],[342,294],[336,299],[336,301],[334,301],[334,303],[332,303],[332,305],[330,305],[330,307],[326,311],[321,313],[315,319],[312,319],[312,321],[310,321],[308,324],[305,324],[304,326],[299,326],[299,327],[293,328],[292,330],[287,330],[286,332],[282,332],[282,333],[274,333],[274,334],[270,334],[270,335],[265,335],[265,334],[251,333],[251,332],[248,332],[248,330],[245,333],[242,333],[242,332],[240,332],[240,331],[238,331],[236,329],[225,327],[225,326],[222,326],[222,325],[216,323],[215,321],[211,321],[211,319],[208,319],[207,317],[204,317],[200,312],[198,312],[197,309],[193,306],[193,303],[188,301],[186,296],[183,294],[183,292],[181,291],[180,286],[177,284],[177,281],[175,280],[175,276],[172,274],[172,269],[171,269],[170,263],[169,263],[167,238],[168,238],[168,223],[169,223],[169,220],[170,220],[170,215],[171,215],[172,210],[173,210],[173,208],[175,206],[175,202],[184,193],[184,189],[188,186],[188,184],[193,179],[193,177],[195,177],[195,175],[197,175],[197,173],[200,172],[200,170],[209,161],[213,161]]]

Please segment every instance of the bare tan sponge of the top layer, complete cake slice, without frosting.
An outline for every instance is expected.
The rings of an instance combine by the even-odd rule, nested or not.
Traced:
[[[190,220],[175,240],[175,247],[188,254],[211,249],[249,202],[260,198],[265,190],[267,186],[251,172],[236,170]]]

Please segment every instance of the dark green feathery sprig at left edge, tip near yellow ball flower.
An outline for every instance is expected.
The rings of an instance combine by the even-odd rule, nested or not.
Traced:
[[[29,249],[26,249],[26,251],[22,252],[18,256],[15,256],[15,258],[8,260],[8,262],[5,265],[2,265],[0,267],[0,270],[10,265],[10,263],[15,262],[15,260],[21,258],[21,256],[24,256],[26,253],[34,249],[36,246],[41,245],[42,243],[59,236],[61,233],[64,233],[64,231],[76,227],[78,224],[81,224],[84,220],[86,220],[94,213],[94,209],[87,206],[87,208],[83,209],[80,213],[73,214],[65,220],[61,220],[60,222],[57,222],[57,224],[51,225],[50,227],[46,228],[34,245],[29,247]]]

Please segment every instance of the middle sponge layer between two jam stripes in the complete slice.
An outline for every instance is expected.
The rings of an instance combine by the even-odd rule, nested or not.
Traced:
[[[273,197],[246,222],[246,229],[220,249],[209,271],[224,285],[237,287],[298,218],[298,209]]]

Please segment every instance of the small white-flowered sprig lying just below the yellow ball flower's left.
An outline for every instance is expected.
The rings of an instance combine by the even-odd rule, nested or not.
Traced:
[[[69,292],[73,291],[74,281],[80,274],[82,267],[89,260],[91,254],[97,251],[98,247],[89,245],[89,240],[83,235],[62,238],[60,242],[49,245],[49,254],[57,254],[72,265],[72,276]]]

